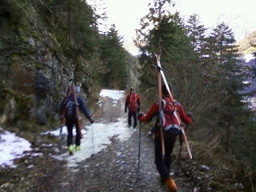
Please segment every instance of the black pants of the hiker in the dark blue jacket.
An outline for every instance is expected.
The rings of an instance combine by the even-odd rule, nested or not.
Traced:
[[[75,145],[80,146],[80,135],[78,132],[78,122],[76,118],[66,119],[67,127],[67,146],[73,145],[73,127],[75,126],[77,135],[75,136]]]

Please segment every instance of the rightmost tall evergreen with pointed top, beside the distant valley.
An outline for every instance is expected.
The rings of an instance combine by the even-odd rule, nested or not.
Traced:
[[[238,61],[238,49],[235,46],[235,39],[232,30],[225,23],[219,24],[210,35],[214,44],[215,69],[214,74],[218,77],[215,81],[215,91],[218,95],[218,127],[223,133],[222,142],[226,150],[232,148],[230,138],[234,132],[241,129],[241,124],[248,121],[246,109],[242,103],[243,81],[246,79],[246,68]],[[217,104],[217,103],[216,103]]]

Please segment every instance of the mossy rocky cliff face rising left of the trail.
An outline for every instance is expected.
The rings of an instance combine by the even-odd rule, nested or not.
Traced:
[[[34,123],[45,125],[58,119],[58,106],[74,66],[36,9],[26,6],[23,11],[1,13],[0,123],[29,129]]]

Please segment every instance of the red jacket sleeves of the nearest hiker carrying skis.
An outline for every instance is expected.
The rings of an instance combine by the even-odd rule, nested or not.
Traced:
[[[180,103],[176,102],[176,106],[182,122],[185,122],[186,125],[190,125],[190,123],[192,122],[192,118],[190,118],[186,114],[185,110],[182,108],[182,105]],[[150,121],[155,116],[157,116],[158,114],[159,114],[158,102],[154,102],[154,104],[151,106],[150,110],[146,113],[146,115],[143,115],[139,120],[141,122],[147,122],[147,121]],[[159,121],[159,119],[157,121]]]

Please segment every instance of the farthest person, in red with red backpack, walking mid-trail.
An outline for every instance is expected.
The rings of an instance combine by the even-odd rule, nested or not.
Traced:
[[[128,125],[131,126],[131,118],[134,118],[134,128],[137,126],[137,112],[139,112],[141,106],[141,98],[138,94],[135,94],[134,88],[130,88],[130,94],[126,97],[125,113],[128,108]]]

